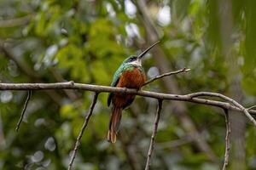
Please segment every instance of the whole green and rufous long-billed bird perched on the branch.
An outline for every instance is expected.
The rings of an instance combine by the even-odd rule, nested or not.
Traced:
[[[159,41],[154,42],[154,44],[145,49],[143,53],[139,54],[138,56],[131,55],[130,57],[126,58],[119,66],[119,69],[115,71],[111,86],[118,88],[135,88],[137,90],[142,88],[146,80],[145,72],[142,66],[143,56],[158,43]],[[108,106],[112,104],[111,116],[108,124],[108,142],[116,142],[122,111],[131,105],[134,99],[134,94],[108,94]]]

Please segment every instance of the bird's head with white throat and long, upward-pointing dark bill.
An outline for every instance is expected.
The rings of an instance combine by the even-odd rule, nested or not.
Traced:
[[[138,56],[136,55],[131,55],[130,57],[128,57],[127,59],[124,60],[123,64],[131,64],[131,65],[137,65],[137,66],[142,66],[142,59],[143,59],[143,56],[145,54],[148,53],[148,51],[151,49],[151,48],[154,48],[154,46],[156,44],[158,44],[160,41],[158,42],[154,42],[154,44],[152,44],[149,48],[145,49],[143,51],[143,53],[139,54]]]

